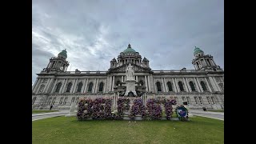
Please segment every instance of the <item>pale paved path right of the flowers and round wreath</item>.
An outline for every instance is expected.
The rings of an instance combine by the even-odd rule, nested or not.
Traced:
[[[222,112],[212,112],[212,111],[202,111],[202,110],[190,110],[190,112],[194,115],[206,117],[206,118],[214,118],[224,121],[224,113]]]

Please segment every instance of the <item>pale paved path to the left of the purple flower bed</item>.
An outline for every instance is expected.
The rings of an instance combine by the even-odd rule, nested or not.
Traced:
[[[52,113],[32,114],[32,121],[36,121],[43,118],[59,117],[68,114],[68,111],[58,111]]]

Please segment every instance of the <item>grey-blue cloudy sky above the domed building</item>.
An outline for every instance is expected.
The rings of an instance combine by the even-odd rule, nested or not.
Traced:
[[[32,82],[64,49],[68,70],[108,70],[129,43],[152,70],[194,69],[194,46],[224,69],[224,2],[32,1]]]

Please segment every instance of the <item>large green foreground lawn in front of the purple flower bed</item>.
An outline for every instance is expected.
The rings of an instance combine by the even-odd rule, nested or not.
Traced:
[[[32,122],[32,143],[224,143],[224,121],[78,121],[75,117]]]

